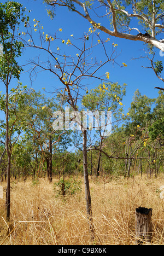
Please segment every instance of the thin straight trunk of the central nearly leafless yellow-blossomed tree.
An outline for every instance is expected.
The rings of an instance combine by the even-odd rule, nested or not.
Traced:
[[[90,185],[89,185],[89,176],[87,170],[87,133],[86,130],[83,131],[83,168],[84,168],[84,184],[85,184],[85,200],[86,200],[86,214],[87,219],[89,220],[89,227],[91,232],[91,239],[94,240],[94,226],[93,226],[93,217],[92,217],[92,205],[91,205],[91,194],[90,194]]]

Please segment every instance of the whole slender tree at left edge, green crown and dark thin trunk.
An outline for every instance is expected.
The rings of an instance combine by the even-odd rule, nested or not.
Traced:
[[[21,55],[24,44],[21,40],[17,40],[16,32],[22,21],[28,22],[28,16],[26,16],[25,12],[26,8],[23,8],[20,3],[11,1],[4,4],[0,3],[0,44],[3,49],[0,56],[0,79],[5,87],[5,148],[8,155],[7,220],[10,219],[10,166],[12,149],[9,131],[9,85],[12,79],[14,79],[15,84],[17,83],[22,71],[17,59]],[[15,85],[15,88],[17,88],[17,85]],[[15,116],[13,126],[16,123],[16,119]]]

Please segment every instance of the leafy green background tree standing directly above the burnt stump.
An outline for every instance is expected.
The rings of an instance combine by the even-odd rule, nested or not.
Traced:
[[[134,92],[125,125],[125,135],[127,137],[125,150],[126,155],[130,158],[139,153],[141,155],[140,161],[142,161],[145,145],[149,137],[148,129],[153,120],[152,107],[154,102],[154,98],[141,95],[138,89]],[[144,156],[147,159],[147,152]],[[128,163],[126,161],[125,176],[130,176],[131,165],[132,159],[129,159]]]

